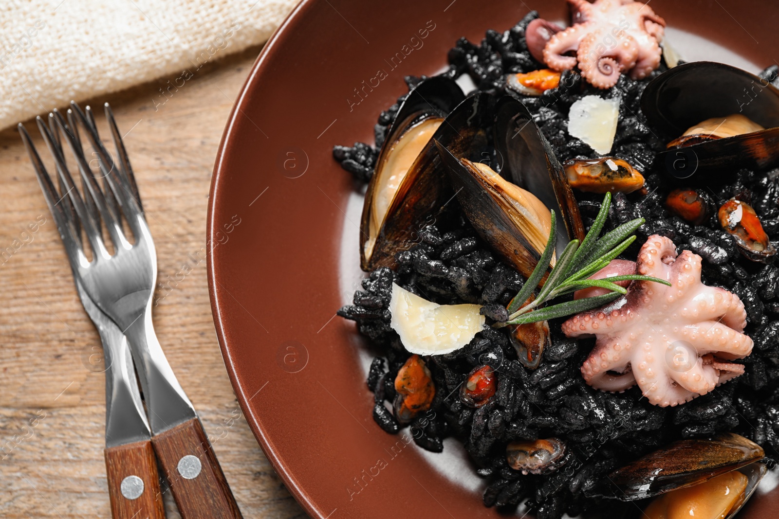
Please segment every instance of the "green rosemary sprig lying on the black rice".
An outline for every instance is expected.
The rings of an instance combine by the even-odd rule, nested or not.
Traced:
[[[552,268],[552,272],[549,272],[544,285],[541,286],[538,296],[523,306],[523,303],[530,299],[538,283],[541,282],[541,278],[548,268],[549,261],[552,260],[552,254],[555,252],[555,212],[552,211],[552,233],[549,233],[549,240],[546,243],[544,252],[541,254],[541,259],[539,259],[538,264],[533,269],[530,277],[527,278],[527,282],[522,286],[522,289],[509,303],[509,319],[506,322],[495,323],[495,328],[502,328],[507,324],[527,324],[546,321],[555,317],[578,314],[579,312],[600,307],[627,293],[626,289],[615,283],[618,281],[654,281],[671,286],[671,283],[664,279],[637,274],[617,275],[608,279],[587,279],[590,275],[608,265],[609,261],[622,254],[622,251],[625,251],[636,240],[633,233],[645,222],[643,218],[630,220],[599,238],[598,236],[600,236],[601,230],[603,230],[608,217],[608,208],[611,204],[612,195],[611,193],[606,193],[601,204],[601,210],[597,213],[597,218],[595,218],[595,222],[590,227],[587,236],[584,237],[581,243],[579,240],[569,241],[555,263],[555,267]],[[550,307],[539,308],[541,305],[559,296],[564,296],[576,290],[586,289],[590,286],[608,289],[611,292],[602,296],[585,297],[580,300],[565,301]]]

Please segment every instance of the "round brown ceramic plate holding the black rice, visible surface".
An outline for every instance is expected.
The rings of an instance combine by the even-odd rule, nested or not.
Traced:
[[[687,58],[750,66],[744,58],[753,72],[774,63],[774,0],[651,7]],[[404,75],[441,71],[457,38],[478,42],[530,9],[567,19],[562,0],[302,2],[263,49],[227,122],[207,230],[217,335],[249,426],[312,517],[500,516],[482,505],[456,442],[428,454],[371,418],[367,346],[334,317],[360,276],[360,199],[331,150],[372,142],[379,111],[406,91]],[[403,54],[425,28],[421,47]],[[386,79],[363,89],[379,70]],[[742,517],[776,517],[777,506],[779,491],[757,496]]]

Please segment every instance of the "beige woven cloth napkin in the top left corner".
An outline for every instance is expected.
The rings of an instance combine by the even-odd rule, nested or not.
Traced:
[[[0,0],[0,129],[151,79],[185,84],[205,63],[263,43],[296,3]]]

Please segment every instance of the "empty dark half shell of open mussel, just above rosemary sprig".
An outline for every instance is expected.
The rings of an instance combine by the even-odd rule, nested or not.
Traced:
[[[555,211],[557,254],[570,240],[583,240],[579,205],[565,170],[527,107],[512,96],[502,97],[495,105],[492,132],[498,162],[494,169]]]

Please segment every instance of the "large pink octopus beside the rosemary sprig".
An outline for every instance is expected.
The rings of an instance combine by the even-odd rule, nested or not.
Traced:
[[[728,290],[703,285],[700,261],[690,251],[677,257],[671,240],[651,236],[637,272],[671,286],[634,281],[626,296],[562,324],[568,337],[597,336],[581,368],[587,384],[615,392],[637,383],[649,402],[666,407],[744,372],[742,364],[727,362],[752,352],[752,339],[742,333],[744,304]]]

